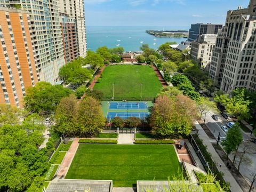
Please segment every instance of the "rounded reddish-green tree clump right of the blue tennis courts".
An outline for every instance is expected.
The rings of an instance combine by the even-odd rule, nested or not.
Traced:
[[[154,104],[150,125],[159,137],[179,137],[191,132],[196,116],[196,105],[190,98],[161,95]]]

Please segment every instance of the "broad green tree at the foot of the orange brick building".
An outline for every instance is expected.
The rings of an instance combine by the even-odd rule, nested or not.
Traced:
[[[62,85],[39,82],[36,86],[27,89],[24,98],[25,108],[35,113],[52,113],[56,110],[60,100],[71,92]]]

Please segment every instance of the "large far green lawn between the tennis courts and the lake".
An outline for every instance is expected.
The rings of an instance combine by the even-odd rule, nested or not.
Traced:
[[[140,84],[142,84],[142,100],[154,100],[162,85],[150,66],[115,65],[108,66],[101,78],[94,85],[94,90],[101,90],[105,100],[140,100]]]

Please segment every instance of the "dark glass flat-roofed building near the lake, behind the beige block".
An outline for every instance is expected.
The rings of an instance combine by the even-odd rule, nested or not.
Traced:
[[[196,23],[191,24],[188,34],[188,41],[196,41],[199,35],[203,34],[217,34],[218,30],[222,28],[220,24],[203,24],[203,23]]]

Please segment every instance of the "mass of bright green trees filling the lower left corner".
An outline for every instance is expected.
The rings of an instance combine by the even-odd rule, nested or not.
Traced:
[[[49,169],[47,148],[38,151],[43,118],[10,105],[0,110],[0,191],[36,191]]]

